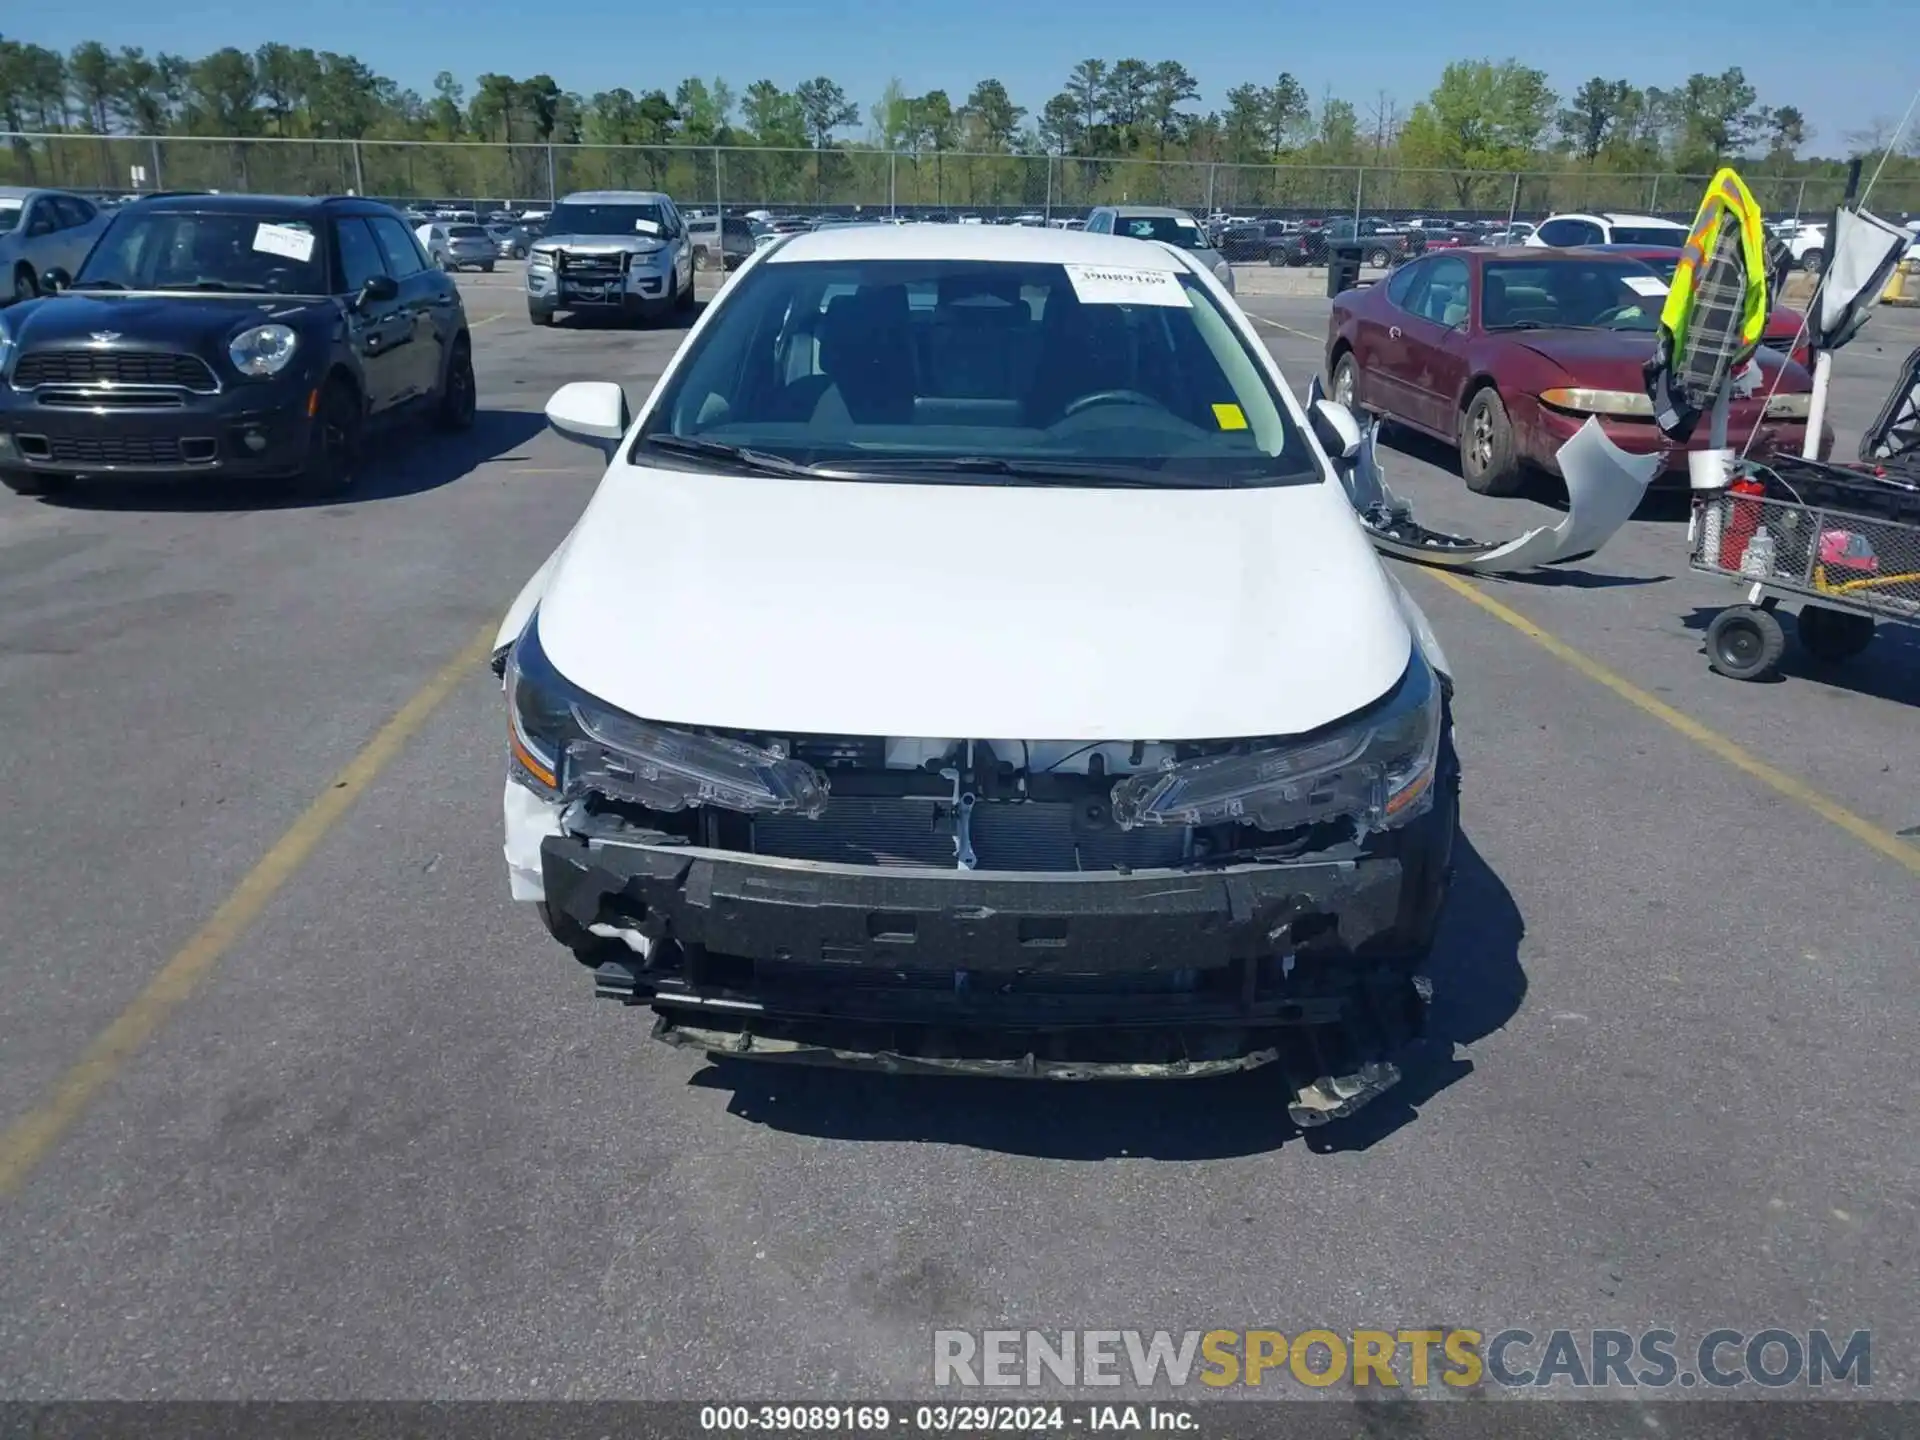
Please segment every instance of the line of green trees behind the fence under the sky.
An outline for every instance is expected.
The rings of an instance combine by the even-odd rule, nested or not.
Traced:
[[[578,94],[551,75],[440,73],[432,94],[378,75],[355,56],[265,44],[198,60],[88,40],[60,54],[0,38],[0,123],[13,132],[426,140],[509,146],[741,146],[856,154],[1056,156],[1085,167],[1129,161],[1382,167],[1453,173],[1436,202],[1486,202],[1482,177],[1515,171],[1703,175],[1738,157],[1755,175],[1830,179],[1857,154],[1884,152],[1891,123],[1822,144],[1791,104],[1764,104],[1740,69],[1672,88],[1594,77],[1559,96],[1519,61],[1459,60],[1402,108],[1356,102],[1279,73],[1236,84],[1204,108],[1177,60],[1083,60],[1058,94],[1027,109],[996,79],[966,92],[908,94],[899,83],[866,109],[839,83],[791,90],[689,77],[672,88]],[[12,179],[33,161],[13,142]],[[1812,157],[1816,154],[1826,159]],[[442,167],[445,169],[445,167]],[[812,175],[820,182],[822,161]],[[1920,167],[1895,157],[1891,180]],[[1096,179],[1085,169],[1083,179]]]

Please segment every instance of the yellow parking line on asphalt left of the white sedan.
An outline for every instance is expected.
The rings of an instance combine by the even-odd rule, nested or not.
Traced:
[[[88,1102],[104,1091],[138,1052],[167,1016],[175,1012],[213,972],[232,943],[259,920],[280,887],[307,862],[340,816],[357,801],[401,747],[426,724],[440,703],[463,680],[472,678],[493,645],[493,626],[486,626],[461,653],[447,660],[399,710],[394,712],[346,770],[305,808],[292,828],[275,841],[246,877],[221,900],[207,922],[159,968],[132,1002],[113,1018],[79,1062],[52,1091],[0,1135],[0,1196],[13,1194],[27,1173],[60,1142]]]

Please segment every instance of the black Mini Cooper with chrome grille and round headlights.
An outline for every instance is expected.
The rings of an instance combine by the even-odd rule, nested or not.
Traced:
[[[474,420],[453,276],[353,198],[134,202],[46,294],[0,311],[0,482],[77,476],[353,486],[369,426]]]

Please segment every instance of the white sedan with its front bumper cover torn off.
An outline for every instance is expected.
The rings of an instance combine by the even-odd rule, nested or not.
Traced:
[[[507,870],[697,1050],[1394,1083],[1452,872],[1452,680],[1311,417],[1173,246],[780,240],[513,605]]]

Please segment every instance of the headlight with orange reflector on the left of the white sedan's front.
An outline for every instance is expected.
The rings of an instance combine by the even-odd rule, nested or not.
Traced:
[[[526,628],[507,660],[507,774],[545,799],[593,791],[649,810],[804,814],[828,804],[828,781],[778,749],[637,720],[566,680]]]

